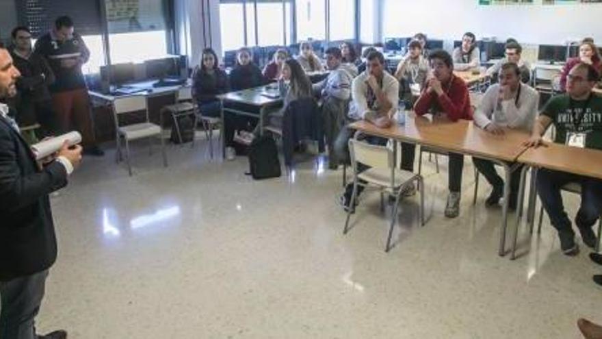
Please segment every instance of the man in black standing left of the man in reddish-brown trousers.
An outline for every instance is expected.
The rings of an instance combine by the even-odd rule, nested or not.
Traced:
[[[16,121],[19,126],[39,123],[42,127],[42,133],[38,135],[40,138],[55,135],[58,132],[56,118],[48,90],[48,86],[54,83],[54,73],[41,55],[32,53],[31,32],[27,27],[13,29],[12,42],[12,62],[21,73],[16,81]]]

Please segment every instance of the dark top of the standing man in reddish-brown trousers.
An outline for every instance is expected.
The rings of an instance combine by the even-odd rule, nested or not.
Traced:
[[[86,81],[81,73],[81,65],[90,59],[90,50],[79,34],[74,33],[73,38],[60,42],[55,40],[52,32],[45,34],[36,41],[34,51],[48,60],[56,81],[50,86],[53,93],[66,92],[86,88]],[[78,60],[79,64],[73,68],[61,66],[62,60]]]

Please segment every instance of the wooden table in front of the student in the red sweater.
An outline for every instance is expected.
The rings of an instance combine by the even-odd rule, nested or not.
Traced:
[[[504,168],[504,199],[502,225],[499,236],[499,255],[506,254],[506,229],[508,226],[508,198],[510,197],[510,175],[516,169],[512,166],[525,151],[523,142],[529,134],[525,131],[506,129],[503,136],[495,136],[471,121],[449,121],[447,118],[428,118],[408,113],[404,125],[394,124],[389,128],[379,128],[366,121],[357,121],[350,126],[371,136],[410,142],[434,147],[443,151],[472,155],[491,160]]]

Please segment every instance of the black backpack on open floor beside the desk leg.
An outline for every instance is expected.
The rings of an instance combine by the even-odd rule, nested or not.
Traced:
[[[249,169],[253,179],[280,177],[280,160],[271,136],[254,138],[249,147]]]

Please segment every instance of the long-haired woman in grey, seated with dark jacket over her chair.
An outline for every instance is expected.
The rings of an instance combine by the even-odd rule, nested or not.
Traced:
[[[278,90],[280,90],[280,97],[283,98],[283,108],[276,112],[263,110],[264,126],[270,123],[270,116],[272,114],[283,116],[291,101],[313,97],[311,81],[309,81],[309,77],[305,74],[299,62],[294,59],[287,59],[285,61],[282,77],[278,79]],[[241,138],[246,142],[250,142],[252,138],[259,136],[260,131],[261,128],[257,125],[252,135],[243,133]]]

